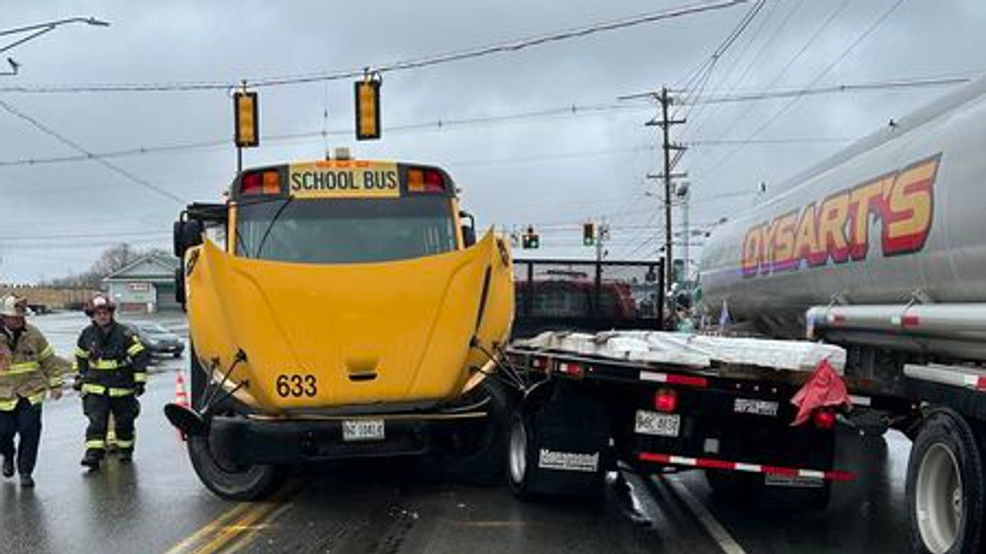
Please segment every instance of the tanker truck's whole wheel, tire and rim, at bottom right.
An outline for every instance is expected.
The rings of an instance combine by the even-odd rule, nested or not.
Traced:
[[[957,412],[932,411],[907,462],[907,514],[914,552],[964,554],[984,546],[983,460],[977,435]]]

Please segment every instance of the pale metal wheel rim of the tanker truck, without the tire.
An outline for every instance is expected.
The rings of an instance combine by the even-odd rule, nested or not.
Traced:
[[[962,525],[962,475],[952,449],[942,443],[928,448],[918,471],[918,530],[925,547],[944,554],[958,539]]]

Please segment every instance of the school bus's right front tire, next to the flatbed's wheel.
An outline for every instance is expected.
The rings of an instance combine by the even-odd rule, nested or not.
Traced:
[[[513,402],[506,386],[494,378],[483,379],[475,390],[476,394],[489,398],[489,416],[475,430],[468,428],[466,431],[469,432],[463,432],[463,435],[478,441],[465,451],[459,445],[439,453],[436,463],[442,475],[451,481],[479,486],[500,485],[507,463],[507,426]]]

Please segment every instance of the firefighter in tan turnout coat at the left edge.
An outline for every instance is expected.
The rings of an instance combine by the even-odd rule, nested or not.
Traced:
[[[0,298],[0,455],[4,477],[14,476],[16,453],[21,486],[33,487],[41,403],[45,392],[56,400],[61,398],[68,362],[55,356],[41,331],[25,321],[26,314],[25,299]],[[20,437],[16,448],[15,435]]]

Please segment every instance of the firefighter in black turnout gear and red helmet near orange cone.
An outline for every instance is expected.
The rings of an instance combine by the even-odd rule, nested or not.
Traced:
[[[149,353],[132,330],[113,319],[116,305],[96,295],[86,306],[92,325],[82,330],[75,360],[82,389],[82,408],[89,418],[82,465],[99,469],[106,453],[106,433],[113,415],[121,462],[133,458],[137,397],[144,394]]]

